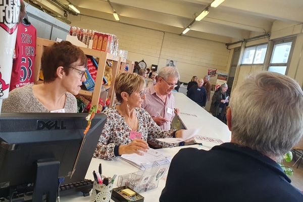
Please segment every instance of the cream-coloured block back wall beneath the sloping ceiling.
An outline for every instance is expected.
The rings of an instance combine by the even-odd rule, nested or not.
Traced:
[[[190,81],[193,75],[203,77],[208,68],[228,72],[230,51],[225,43],[207,39],[179,36],[118,22],[86,16],[70,16],[72,26],[94,29],[117,35],[119,48],[128,51],[131,61],[144,61],[147,67],[166,66],[166,60],[177,61],[181,81]]]

